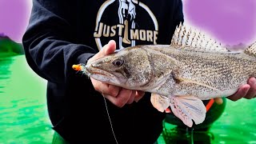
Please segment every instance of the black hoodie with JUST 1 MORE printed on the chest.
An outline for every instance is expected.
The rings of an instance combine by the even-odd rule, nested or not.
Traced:
[[[30,67],[47,84],[53,129],[68,142],[114,143],[102,95],[72,65],[86,63],[110,39],[117,47],[170,44],[183,22],[181,0],[34,0],[23,46]],[[150,94],[122,108],[106,100],[119,143],[153,143],[165,114]]]

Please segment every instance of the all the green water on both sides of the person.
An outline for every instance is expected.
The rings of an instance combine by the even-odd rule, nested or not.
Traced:
[[[256,99],[228,100],[221,118],[206,134],[194,132],[194,139],[208,136],[211,143],[256,143],[255,108]],[[165,126],[165,134],[176,134],[174,126]],[[0,144],[50,143],[53,134],[46,110],[46,81],[30,70],[24,55],[0,58]],[[190,138],[191,133],[185,135]],[[158,143],[167,143],[164,136]]]

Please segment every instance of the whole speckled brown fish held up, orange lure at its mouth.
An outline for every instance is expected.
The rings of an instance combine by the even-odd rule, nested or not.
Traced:
[[[234,94],[256,76],[256,42],[230,52],[195,29],[180,25],[170,45],[132,46],[93,62],[74,65],[90,78],[151,93],[161,112],[169,106],[186,126],[202,123],[202,100]]]

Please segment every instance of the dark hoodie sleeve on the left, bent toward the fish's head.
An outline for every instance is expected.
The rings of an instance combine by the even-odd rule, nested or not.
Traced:
[[[73,64],[86,63],[98,52],[75,43],[70,19],[76,14],[69,10],[68,3],[34,0],[30,23],[22,38],[28,64],[49,82],[66,82],[74,74]]]

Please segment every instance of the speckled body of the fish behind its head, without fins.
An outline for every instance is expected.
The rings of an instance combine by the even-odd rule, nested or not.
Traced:
[[[189,94],[202,100],[229,96],[256,74],[256,58],[243,52],[182,50],[161,45],[140,49],[146,51],[150,75],[157,81],[166,80],[160,82],[162,85],[158,82],[157,88],[150,87],[157,94]]]

